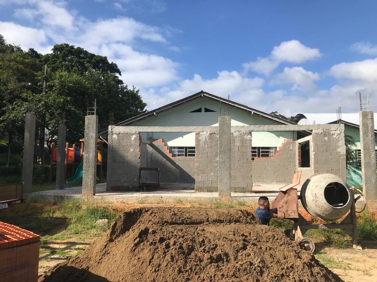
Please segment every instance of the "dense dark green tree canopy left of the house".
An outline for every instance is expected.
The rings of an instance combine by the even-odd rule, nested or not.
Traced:
[[[46,94],[38,89],[43,87],[44,64],[48,65]],[[109,125],[109,111],[115,122],[144,112],[146,103],[139,90],[125,85],[120,74],[114,62],[81,47],[56,44],[52,53],[41,55],[34,49],[25,52],[19,46],[7,44],[0,35],[0,133],[10,139],[22,138],[30,105],[34,106],[39,127],[43,113],[46,114],[48,146],[57,139],[63,115],[67,141],[78,144],[84,137],[88,100],[92,105],[97,99],[100,129]]]

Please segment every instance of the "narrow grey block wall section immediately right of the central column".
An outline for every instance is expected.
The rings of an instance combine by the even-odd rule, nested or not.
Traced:
[[[251,132],[231,134],[231,190],[253,191],[251,167]]]

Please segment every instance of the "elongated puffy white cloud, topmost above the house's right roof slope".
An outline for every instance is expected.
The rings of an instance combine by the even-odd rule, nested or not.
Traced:
[[[249,70],[269,75],[282,62],[293,64],[319,58],[319,49],[313,49],[301,44],[298,40],[285,41],[275,46],[267,58],[258,57],[255,62],[244,63],[245,73]]]

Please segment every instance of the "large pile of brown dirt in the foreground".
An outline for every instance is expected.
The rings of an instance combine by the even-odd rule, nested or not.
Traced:
[[[134,209],[38,281],[342,281],[282,232],[256,221],[236,209]]]

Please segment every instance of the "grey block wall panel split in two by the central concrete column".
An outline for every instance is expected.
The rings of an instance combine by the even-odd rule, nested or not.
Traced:
[[[218,191],[218,134],[196,132],[195,134],[195,191]],[[251,192],[251,134],[231,134],[231,191]]]

